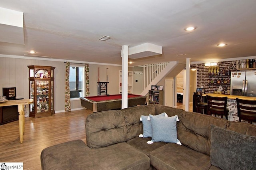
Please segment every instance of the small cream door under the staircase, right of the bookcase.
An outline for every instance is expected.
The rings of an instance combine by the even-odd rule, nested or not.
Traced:
[[[165,80],[164,101],[166,106],[174,107],[174,80]]]

